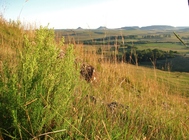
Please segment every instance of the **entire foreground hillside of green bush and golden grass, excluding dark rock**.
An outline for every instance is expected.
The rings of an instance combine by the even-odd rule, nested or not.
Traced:
[[[0,139],[189,139],[188,73],[99,62],[48,27],[1,25]],[[96,83],[76,59],[96,68]]]

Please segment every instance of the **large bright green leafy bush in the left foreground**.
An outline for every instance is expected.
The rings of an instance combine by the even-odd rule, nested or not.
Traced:
[[[24,36],[23,48],[16,53],[16,64],[8,59],[2,62],[1,133],[6,139],[39,138],[55,130],[63,133],[79,78],[73,46],[69,45],[64,59],[57,59],[54,32],[41,27],[34,40]],[[55,132],[54,138],[60,138]]]

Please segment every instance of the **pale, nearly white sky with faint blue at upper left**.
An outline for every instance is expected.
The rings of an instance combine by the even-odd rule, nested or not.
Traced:
[[[189,26],[188,0],[0,0],[0,14],[54,29]]]

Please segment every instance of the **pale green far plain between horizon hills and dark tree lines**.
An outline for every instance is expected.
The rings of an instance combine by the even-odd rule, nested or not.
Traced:
[[[179,40],[174,36],[173,31],[146,31],[146,30],[116,30],[116,29],[107,29],[107,30],[94,30],[94,29],[82,29],[82,30],[55,30],[55,33],[60,36],[65,36],[68,38],[74,37],[75,41],[84,41],[97,38],[106,38],[109,36],[130,36],[137,35],[136,39],[127,39],[126,42],[130,41],[150,41],[150,42],[179,42]],[[177,33],[177,31],[176,31]],[[189,31],[178,31],[179,36],[188,38]],[[160,36],[161,38],[142,38],[143,36]],[[169,35],[169,37],[164,37]],[[185,39],[188,43],[189,40]]]

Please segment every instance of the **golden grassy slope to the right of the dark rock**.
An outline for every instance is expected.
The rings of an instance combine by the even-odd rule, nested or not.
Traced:
[[[146,130],[151,133],[147,133],[147,139],[167,139],[168,137],[166,135],[169,132],[157,137],[154,135],[156,135],[156,132],[161,133],[164,129],[176,127],[177,123],[182,122],[181,120],[185,117],[187,118],[185,111],[188,108],[186,106],[189,100],[185,98],[185,96],[189,94],[187,86],[189,83],[188,73],[154,71],[152,69],[136,67],[124,63],[95,64],[95,58],[91,58],[90,54],[88,56],[85,54],[85,57],[98,68],[99,72],[99,83],[95,85],[94,91],[90,92],[90,94],[95,95],[106,103],[117,101],[125,106],[130,106],[131,112],[134,113],[132,114],[130,112],[130,119],[133,119],[133,121],[137,121],[135,118],[137,111],[143,116],[142,118],[146,122],[143,122],[144,120],[141,121],[139,117],[138,119],[141,121],[141,124],[138,124],[138,122],[131,122],[131,124],[126,123],[129,127],[127,128],[128,131],[133,131],[135,139],[142,138],[140,136],[137,137],[136,134],[140,133],[139,135],[143,135],[143,133],[145,133],[143,131],[145,127],[152,127],[152,129],[148,128],[148,130]],[[189,123],[187,120],[184,122]],[[170,124],[171,126],[169,126]],[[138,127],[138,125],[141,127]],[[112,134],[111,129],[112,128],[110,128],[109,131]],[[183,130],[176,131],[180,133]],[[178,134],[177,132],[175,135]],[[128,137],[129,135],[132,134],[127,134]],[[188,137],[188,134],[186,137]]]

